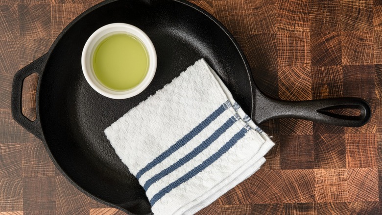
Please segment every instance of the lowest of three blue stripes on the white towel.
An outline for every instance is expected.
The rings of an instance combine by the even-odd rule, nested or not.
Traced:
[[[247,132],[247,130],[242,128],[238,133],[236,133],[227,143],[224,144],[223,147],[221,147],[210,158],[208,158],[207,160],[203,161],[200,165],[198,165],[195,168],[193,168],[190,172],[186,173],[185,175],[180,177],[178,180],[172,182],[166,188],[163,188],[161,191],[159,191],[157,194],[155,194],[150,199],[151,206],[153,206],[159,199],[161,199],[164,195],[166,195],[166,193],[170,192],[173,188],[177,188],[182,183],[187,182],[193,176],[195,176],[199,172],[203,171],[205,168],[207,168],[209,165],[211,165],[213,162],[215,162],[217,159],[219,159],[232,146],[234,146],[239,141],[239,139],[241,139],[245,135],[246,132]]]

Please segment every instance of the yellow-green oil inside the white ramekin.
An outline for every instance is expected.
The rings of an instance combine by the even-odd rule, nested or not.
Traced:
[[[103,39],[95,48],[93,69],[106,87],[123,91],[141,83],[147,74],[148,53],[137,38],[114,34]]]

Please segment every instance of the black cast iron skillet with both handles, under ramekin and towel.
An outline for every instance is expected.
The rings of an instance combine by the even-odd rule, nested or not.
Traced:
[[[110,23],[143,29],[157,51],[154,80],[130,99],[103,97],[82,75],[80,59],[86,40]],[[50,158],[75,187],[126,213],[147,214],[151,207],[143,188],[119,160],[103,130],[202,57],[258,124],[292,117],[355,127],[370,118],[369,105],[358,98],[287,102],[264,96],[232,35],[206,11],[184,0],[107,0],[85,11],[63,30],[47,54],[15,75],[12,114],[44,142]],[[33,122],[21,112],[23,80],[31,73],[39,75]],[[357,108],[361,113],[327,112],[337,108]]]

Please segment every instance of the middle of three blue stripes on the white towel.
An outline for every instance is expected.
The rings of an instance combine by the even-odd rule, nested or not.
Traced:
[[[185,157],[181,158],[179,161],[176,161],[171,166],[167,167],[166,169],[162,170],[160,173],[156,174],[152,178],[146,181],[144,183],[144,190],[147,191],[147,189],[157,182],[158,180],[165,177],[167,174],[173,172],[186,162],[190,161],[192,158],[199,155],[203,150],[205,150],[208,146],[210,146],[221,134],[223,134],[227,129],[229,129],[237,120],[235,117],[229,118],[220,128],[218,128],[211,136],[209,136],[206,140],[204,140],[200,145],[198,145],[196,148],[194,148],[189,154],[187,154]]]

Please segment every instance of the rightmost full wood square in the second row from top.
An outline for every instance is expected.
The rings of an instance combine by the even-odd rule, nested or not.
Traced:
[[[342,64],[369,65],[374,62],[372,31],[341,32]]]

